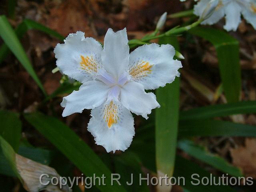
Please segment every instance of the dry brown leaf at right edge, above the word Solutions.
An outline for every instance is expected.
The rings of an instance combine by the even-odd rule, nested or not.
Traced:
[[[230,149],[232,162],[235,166],[242,168],[246,177],[256,179],[256,139],[246,138],[245,146]]]

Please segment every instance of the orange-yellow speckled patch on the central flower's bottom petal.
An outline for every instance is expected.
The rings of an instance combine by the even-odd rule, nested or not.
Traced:
[[[117,122],[117,106],[113,103],[113,101],[111,101],[110,104],[106,105],[104,109],[104,119],[108,124],[108,128],[111,128],[112,124],[115,124]]]

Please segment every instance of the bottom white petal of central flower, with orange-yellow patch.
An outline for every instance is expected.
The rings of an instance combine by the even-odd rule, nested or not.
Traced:
[[[88,131],[96,144],[102,145],[107,152],[126,150],[134,136],[132,114],[120,104],[110,102],[92,110]]]

